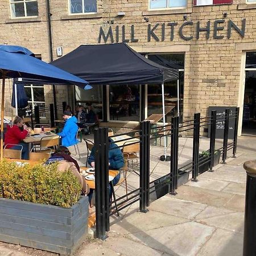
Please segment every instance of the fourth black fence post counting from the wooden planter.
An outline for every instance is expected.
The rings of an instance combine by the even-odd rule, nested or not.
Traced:
[[[199,167],[200,113],[194,114],[192,181],[197,181]]]

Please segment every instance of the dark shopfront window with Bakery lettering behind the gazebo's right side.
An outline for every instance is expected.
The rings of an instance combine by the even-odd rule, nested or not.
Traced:
[[[184,54],[148,55],[148,59],[168,68],[179,69],[179,115],[183,118],[183,90],[184,90]],[[177,81],[164,83],[164,106],[166,120],[177,115]],[[171,109],[171,110],[170,110]],[[147,86],[147,115],[162,114],[162,86],[160,84]]]

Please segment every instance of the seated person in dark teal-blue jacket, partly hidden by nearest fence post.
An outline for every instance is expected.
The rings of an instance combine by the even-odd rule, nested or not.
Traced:
[[[113,139],[109,138],[109,170],[117,170],[119,171],[124,165],[125,161],[123,160],[122,151],[117,146],[117,144],[113,143]],[[95,167],[95,148],[92,148],[92,151],[90,152],[90,156],[88,159],[88,163],[93,168]],[[113,185],[116,185],[118,181],[120,180],[120,174],[114,177],[112,180]],[[93,190],[90,189],[90,193],[88,194],[89,202],[92,199],[92,193]],[[112,197],[112,188],[109,187],[109,196],[110,199]]]

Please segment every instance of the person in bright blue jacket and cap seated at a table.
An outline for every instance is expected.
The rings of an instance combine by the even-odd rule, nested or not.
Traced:
[[[73,146],[77,143],[76,133],[79,130],[77,119],[75,116],[72,117],[72,113],[68,110],[64,111],[63,118],[66,122],[61,133],[58,133],[61,137],[61,146]]]

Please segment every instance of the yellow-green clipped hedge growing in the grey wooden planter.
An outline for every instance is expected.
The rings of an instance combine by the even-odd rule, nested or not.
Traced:
[[[70,172],[57,172],[57,164],[44,166],[0,163],[0,197],[69,208],[77,203],[81,185]]]

